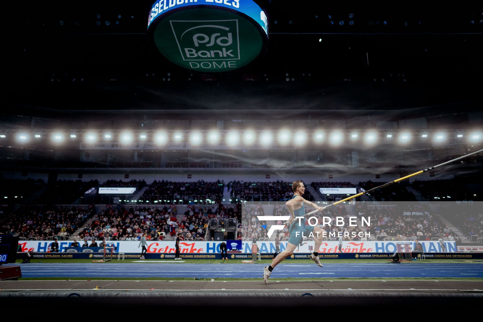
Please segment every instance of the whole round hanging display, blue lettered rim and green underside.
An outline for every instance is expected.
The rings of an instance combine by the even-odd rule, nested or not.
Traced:
[[[224,72],[266,51],[268,20],[253,0],[158,0],[149,12],[148,34],[170,62]]]

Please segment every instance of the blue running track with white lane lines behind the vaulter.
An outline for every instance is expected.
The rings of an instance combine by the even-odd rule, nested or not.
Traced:
[[[182,263],[30,263],[20,264],[22,276],[66,278],[262,278],[262,264]],[[361,263],[280,264],[270,278],[483,278],[483,264]]]

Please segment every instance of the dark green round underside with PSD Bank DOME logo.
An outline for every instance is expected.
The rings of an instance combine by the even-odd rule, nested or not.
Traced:
[[[241,68],[252,62],[263,46],[262,34],[248,18],[208,8],[165,17],[156,26],[154,41],[171,62],[201,72]]]

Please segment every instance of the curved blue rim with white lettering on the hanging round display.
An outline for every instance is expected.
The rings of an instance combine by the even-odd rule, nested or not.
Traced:
[[[153,4],[149,12],[148,29],[153,21],[165,13],[174,9],[200,5],[217,6],[245,14],[255,20],[268,35],[269,23],[267,15],[253,0],[158,0]]]

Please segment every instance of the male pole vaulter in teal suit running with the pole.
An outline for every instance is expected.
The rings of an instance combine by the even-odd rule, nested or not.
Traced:
[[[312,259],[318,266],[322,267],[320,264],[319,259],[319,247],[322,241],[324,240],[323,233],[325,229],[319,227],[313,227],[311,225],[305,225],[305,217],[303,219],[296,219],[295,217],[301,217],[305,215],[304,204],[312,206],[313,209],[317,209],[322,211],[322,207],[317,206],[313,202],[307,201],[302,198],[302,195],[305,192],[305,187],[303,182],[301,181],[294,181],[292,183],[292,190],[294,191],[294,196],[292,199],[288,200],[285,205],[287,206],[288,211],[292,215],[290,219],[287,221],[286,224],[289,225],[289,232],[290,238],[288,239],[287,248],[279,253],[277,257],[273,260],[270,266],[266,266],[263,269],[263,280],[265,283],[268,283],[268,279],[270,274],[275,266],[277,266],[280,262],[282,262],[286,257],[291,256],[295,250],[295,248],[301,243],[303,240],[302,233],[304,237],[309,237],[309,234],[312,232],[313,236],[315,237],[315,248],[313,254],[310,255],[310,259]],[[300,224],[299,224],[300,221]]]

